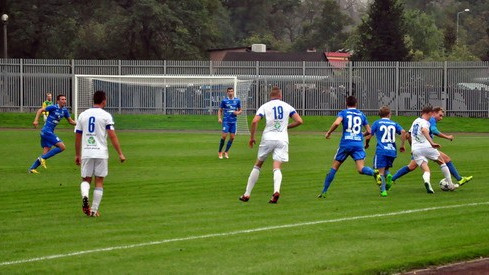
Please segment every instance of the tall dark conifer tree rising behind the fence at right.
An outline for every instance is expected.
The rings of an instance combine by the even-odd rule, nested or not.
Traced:
[[[355,60],[408,61],[404,8],[398,0],[374,0],[357,29]]]

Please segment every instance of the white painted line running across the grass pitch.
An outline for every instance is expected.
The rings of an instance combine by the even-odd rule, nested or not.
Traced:
[[[246,230],[224,232],[224,233],[214,233],[214,234],[207,234],[207,235],[198,235],[198,236],[189,236],[189,237],[182,237],[182,238],[175,238],[175,239],[166,239],[166,240],[146,242],[146,243],[112,246],[112,247],[106,247],[106,248],[97,248],[97,249],[91,249],[91,250],[76,251],[76,252],[65,253],[65,254],[56,254],[56,255],[50,255],[50,256],[41,256],[41,257],[37,257],[37,258],[30,258],[30,259],[23,259],[23,260],[9,261],[9,262],[0,262],[0,266],[39,262],[39,261],[45,261],[45,260],[51,260],[51,259],[57,259],[57,258],[67,258],[67,257],[72,257],[72,256],[78,256],[78,255],[83,255],[83,254],[113,251],[113,250],[122,250],[122,249],[131,249],[131,248],[150,246],[150,245],[159,245],[159,244],[165,244],[165,243],[208,239],[208,238],[215,238],[215,237],[227,237],[227,236],[233,236],[233,235],[248,234],[248,233],[254,233],[254,232],[261,232],[261,231],[270,231],[270,230],[283,229],[283,228],[317,225],[317,224],[324,224],[324,223],[356,221],[356,220],[363,220],[363,219],[370,219],[370,218],[398,216],[398,215],[405,215],[405,214],[411,214],[411,213],[427,212],[427,211],[450,209],[450,208],[469,207],[469,206],[480,206],[480,205],[489,205],[489,201],[488,202],[476,202],[476,203],[467,203],[467,204],[447,205],[447,206],[436,206],[436,207],[428,207],[428,208],[421,208],[421,209],[411,209],[411,210],[403,210],[403,211],[391,212],[391,213],[381,213],[381,214],[372,214],[372,215],[365,215],[365,216],[338,218],[338,219],[332,219],[332,220],[283,224],[283,225],[276,225],[276,226],[259,227],[259,228],[255,228],[255,229],[246,229]]]

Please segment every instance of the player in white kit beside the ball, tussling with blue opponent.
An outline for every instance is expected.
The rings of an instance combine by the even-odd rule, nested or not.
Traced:
[[[450,170],[445,164],[440,152],[436,149],[440,148],[441,146],[434,143],[430,137],[430,123],[428,120],[431,118],[432,114],[433,108],[431,106],[423,108],[421,117],[414,120],[411,128],[409,129],[409,132],[411,133],[411,153],[413,155],[413,160],[424,172],[424,186],[426,188],[426,192],[429,194],[435,193],[430,182],[431,174],[430,167],[428,166],[429,159],[440,165],[440,169],[450,186],[450,190],[455,190],[459,186],[458,184],[452,183]]]

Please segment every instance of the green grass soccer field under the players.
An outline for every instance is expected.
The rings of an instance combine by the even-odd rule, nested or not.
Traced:
[[[332,119],[305,121],[315,123],[305,129],[322,131]],[[470,129],[487,121],[454,123],[475,132]],[[133,128],[123,117],[116,122],[119,129]],[[14,125],[4,120],[0,126]],[[238,200],[257,152],[247,147],[248,136],[237,136],[231,158],[219,160],[217,130],[118,131],[127,162],[118,163],[111,150],[102,216],[88,218],[81,211],[72,130],[57,131],[67,150],[49,159],[47,170],[26,173],[41,152],[38,132],[0,129],[1,274],[376,274],[489,256],[487,133],[437,140],[461,174],[474,175],[454,192],[437,187],[442,175],[432,163],[435,194],[426,194],[418,170],[382,198],[373,178],[359,175],[349,160],[328,198],[319,200],[340,131],[325,140],[299,127],[290,131],[282,196],[271,205],[270,162],[250,201]],[[373,150],[367,151],[369,165]],[[393,170],[408,161],[409,154],[400,154]]]

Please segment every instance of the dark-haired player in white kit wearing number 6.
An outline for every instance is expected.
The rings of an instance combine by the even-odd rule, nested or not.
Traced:
[[[93,95],[93,108],[85,110],[78,116],[78,123],[75,127],[75,163],[81,165],[82,210],[91,217],[100,216],[98,209],[104,193],[104,178],[108,174],[107,135],[119,154],[119,160],[121,162],[126,160],[115,133],[114,120],[108,112],[103,110],[106,104],[105,92],[96,91]],[[95,190],[90,208],[88,197],[90,183],[94,176]]]

